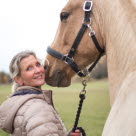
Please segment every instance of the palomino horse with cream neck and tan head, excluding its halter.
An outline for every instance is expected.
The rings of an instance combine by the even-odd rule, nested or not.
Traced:
[[[89,0],[88,0],[89,1]],[[103,136],[136,136],[136,2],[133,0],[92,0],[91,28],[100,48],[105,50],[111,111]],[[84,22],[84,0],[69,0],[60,14],[60,24],[51,49],[68,54]],[[74,55],[74,62],[84,69],[99,51],[85,31]],[[93,32],[93,31],[92,31]],[[51,55],[46,82],[51,86],[68,86],[75,71]],[[46,62],[45,62],[46,65]]]

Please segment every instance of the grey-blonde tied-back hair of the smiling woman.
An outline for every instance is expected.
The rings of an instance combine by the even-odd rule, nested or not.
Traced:
[[[9,65],[9,71],[10,71],[10,76],[14,81],[14,77],[19,76],[21,74],[21,69],[20,69],[20,62],[23,58],[28,57],[30,55],[33,55],[35,58],[36,54],[33,51],[21,51],[18,54],[16,54],[13,59],[10,62]],[[16,89],[19,87],[19,84],[17,84],[15,81],[13,82],[12,85],[12,92],[15,92]]]

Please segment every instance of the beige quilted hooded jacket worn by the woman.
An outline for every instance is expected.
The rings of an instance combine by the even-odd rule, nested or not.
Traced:
[[[41,91],[28,86],[20,87],[2,103],[0,128],[11,136],[67,135],[66,128],[53,107],[52,91]]]

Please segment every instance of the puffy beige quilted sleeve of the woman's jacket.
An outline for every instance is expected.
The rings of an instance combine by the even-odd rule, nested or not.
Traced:
[[[26,108],[27,107],[27,108]],[[24,128],[27,136],[59,136],[62,128],[56,116],[56,111],[42,99],[32,99],[26,102],[24,113]]]

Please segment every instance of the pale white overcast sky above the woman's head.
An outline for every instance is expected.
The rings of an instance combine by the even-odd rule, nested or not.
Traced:
[[[0,0],[0,71],[9,72],[13,56],[32,50],[44,60],[67,0]]]

